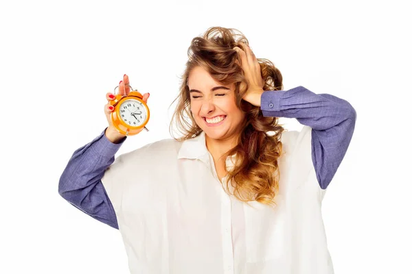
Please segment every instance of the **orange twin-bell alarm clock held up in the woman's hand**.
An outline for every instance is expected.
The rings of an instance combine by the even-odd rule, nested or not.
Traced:
[[[130,86],[130,85],[128,85]],[[115,87],[118,88],[119,86]],[[145,126],[150,118],[148,105],[143,101],[143,95],[137,90],[131,91],[128,95],[119,95],[115,92],[115,99],[109,101],[115,110],[111,113],[111,121],[118,132],[126,136],[135,135]]]

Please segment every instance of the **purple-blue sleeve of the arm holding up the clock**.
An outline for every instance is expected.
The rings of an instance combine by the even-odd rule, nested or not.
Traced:
[[[127,137],[114,144],[106,138],[106,129],[89,144],[74,151],[60,176],[58,193],[82,212],[119,229],[113,205],[101,179]]]

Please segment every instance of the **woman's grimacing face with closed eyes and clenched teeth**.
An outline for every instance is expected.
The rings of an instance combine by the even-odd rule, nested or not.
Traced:
[[[190,109],[209,138],[229,139],[239,134],[245,114],[236,105],[235,84],[222,86],[201,66],[190,72]]]

